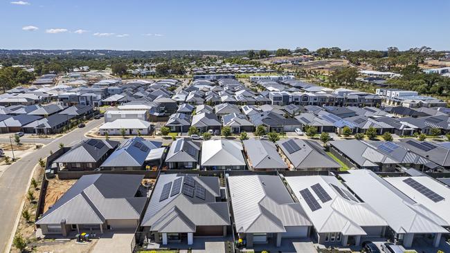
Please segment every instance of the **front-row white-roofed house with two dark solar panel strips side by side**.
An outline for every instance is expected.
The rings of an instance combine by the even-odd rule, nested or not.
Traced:
[[[384,236],[386,221],[336,177],[287,176],[285,180],[314,225],[312,237],[319,244],[348,247]]]

